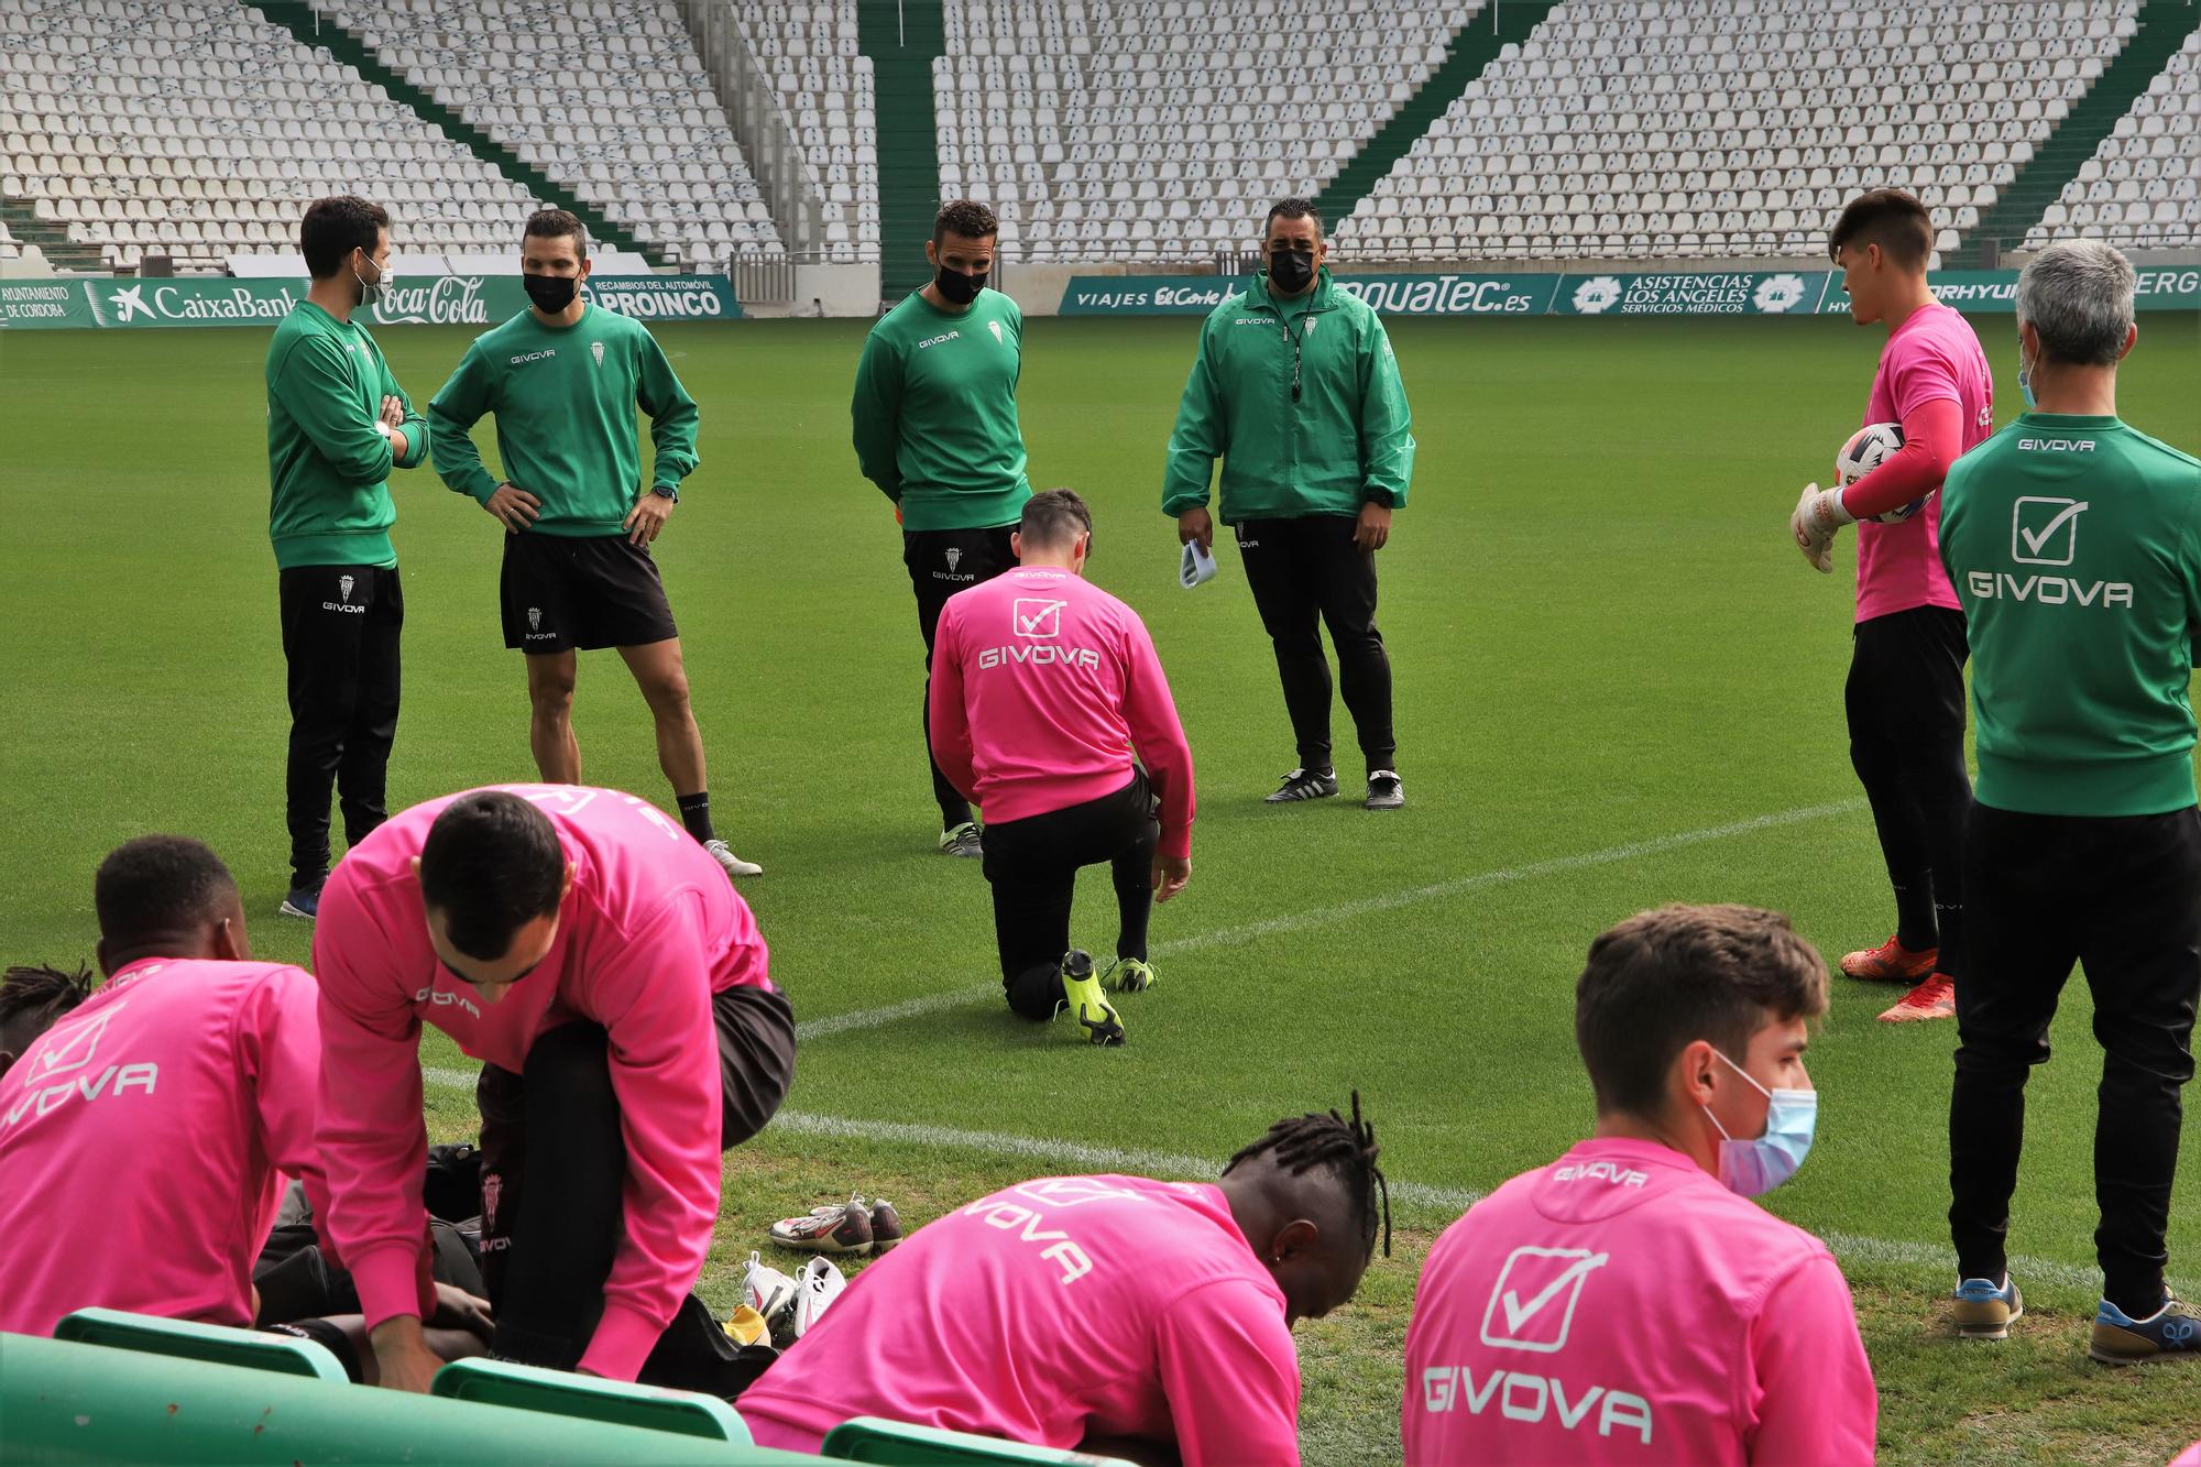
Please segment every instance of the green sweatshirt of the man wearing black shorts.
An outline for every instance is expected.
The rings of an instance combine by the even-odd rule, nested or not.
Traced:
[[[651,485],[678,489],[696,471],[700,414],[649,328],[601,306],[583,306],[572,326],[522,311],[475,337],[429,401],[436,474],[482,504],[500,482],[526,489],[541,500],[535,533],[618,535],[643,496],[636,408],[658,445]],[[502,480],[469,436],[486,412],[497,414]]]

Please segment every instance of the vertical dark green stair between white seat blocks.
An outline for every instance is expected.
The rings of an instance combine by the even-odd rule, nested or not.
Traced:
[[[898,302],[931,278],[924,242],[940,211],[933,57],[946,46],[940,0],[858,0],[856,44],[872,57],[878,119],[878,293]]]

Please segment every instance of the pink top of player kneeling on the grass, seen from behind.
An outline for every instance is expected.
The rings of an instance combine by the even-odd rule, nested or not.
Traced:
[[[933,639],[933,758],[986,819],[1114,795],[1131,751],[1162,802],[1162,855],[1193,852],[1193,751],[1147,623],[1048,566],[955,593]]]

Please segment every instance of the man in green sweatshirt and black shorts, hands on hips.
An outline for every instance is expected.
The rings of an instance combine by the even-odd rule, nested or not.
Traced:
[[[711,826],[702,731],[689,703],[680,632],[649,546],[696,471],[696,399],[640,322],[581,300],[588,231],[563,209],[537,209],[519,236],[528,308],[484,333],[427,405],[436,471],[504,526],[504,645],[526,654],[528,747],[555,784],[581,782],[572,734],[574,650],[618,648],[658,731],[658,764],[680,824],[726,868]],[[649,414],[656,467],[643,491],[634,410]],[[497,482],[469,430],[497,419]]]

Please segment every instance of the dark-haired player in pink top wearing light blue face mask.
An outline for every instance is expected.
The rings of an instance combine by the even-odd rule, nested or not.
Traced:
[[[1406,1328],[1409,1463],[1871,1463],[1827,1245],[1756,1203],[1811,1150],[1827,965],[1785,916],[1666,908],[1589,947],[1598,1128],[1453,1222]]]

